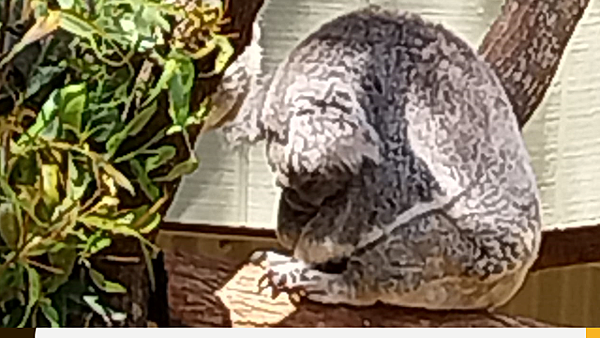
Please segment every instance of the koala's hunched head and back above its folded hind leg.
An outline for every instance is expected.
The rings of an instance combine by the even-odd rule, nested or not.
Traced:
[[[443,209],[475,237],[519,233],[506,243],[518,246],[506,266],[535,259],[539,196],[510,101],[491,68],[441,25],[373,6],[340,16],[291,51],[265,97],[261,123],[279,184],[312,206],[303,209],[312,223],[329,219],[296,248],[304,258],[325,239],[360,248]],[[341,214],[352,217],[332,216]],[[279,224],[296,246],[307,226],[298,219]]]

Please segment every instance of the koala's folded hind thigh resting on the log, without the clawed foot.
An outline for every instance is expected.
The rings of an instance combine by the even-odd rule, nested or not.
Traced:
[[[497,308],[521,287],[539,243],[526,230],[530,222],[500,214],[431,212],[357,250],[348,268],[370,285],[365,298],[433,310]]]

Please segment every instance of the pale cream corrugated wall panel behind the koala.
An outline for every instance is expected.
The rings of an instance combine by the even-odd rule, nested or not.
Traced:
[[[262,13],[263,70],[304,36],[366,0],[271,0]],[[473,46],[503,0],[372,0],[441,22]],[[567,48],[552,88],[524,130],[542,194],[546,227],[600,221],[600,0],[592,0]],[[181,223],[273,228],[277,190],[264,146],[235,154],[218,133],[197,145],[198,171],[186,177],[167,218]]]

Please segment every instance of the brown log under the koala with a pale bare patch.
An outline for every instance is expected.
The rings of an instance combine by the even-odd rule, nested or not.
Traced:
[[[167,251],[172,326],[192,327],[544,327],[523,317],[478,311],[427,311],[376,304],[369,307],[296,303],[287,294],[258,292],[264,271],[225,256]]]

